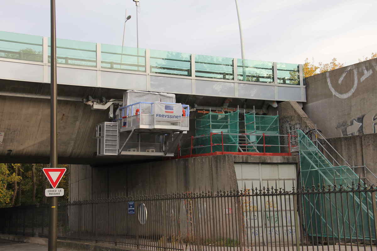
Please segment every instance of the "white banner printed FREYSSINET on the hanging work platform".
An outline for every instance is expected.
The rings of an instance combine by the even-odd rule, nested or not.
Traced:
[[[155,102],[155,117],[158,121],[181,121],[182,105],[181,103],[163,103]]]

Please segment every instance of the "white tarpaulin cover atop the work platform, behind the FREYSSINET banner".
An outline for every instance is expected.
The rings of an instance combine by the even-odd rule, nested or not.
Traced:
[[[127,91],[123,94],[123,106],[138,102],[167,102],[175,103],[175,94],[156,93],[150,91]]]

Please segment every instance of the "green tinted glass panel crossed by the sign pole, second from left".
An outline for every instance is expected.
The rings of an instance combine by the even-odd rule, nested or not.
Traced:
[[[48,62],[51,62],[51,38],[48,38],[48,46]],[[57,63],[86,67],[96,67],[96,49],[96,43],[57,38]]]

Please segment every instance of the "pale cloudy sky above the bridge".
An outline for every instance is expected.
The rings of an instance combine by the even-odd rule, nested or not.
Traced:
[[[3,1],[0,30],[49,37],[50,1]],[[245,58],[350,65],[377,52],[375,0],[238,0]],[[132,0],[56,0],[57,37],[136,47]],[[241,58],[234,0],[140,0],[139,47]]]

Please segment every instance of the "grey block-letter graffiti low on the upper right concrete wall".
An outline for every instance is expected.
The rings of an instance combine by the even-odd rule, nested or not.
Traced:
[[[342,130],[343,136],[362,135],[377,132],[377,109],[353,118],[349,123],[338,123],[336,129]]]

